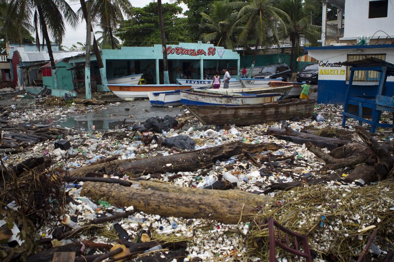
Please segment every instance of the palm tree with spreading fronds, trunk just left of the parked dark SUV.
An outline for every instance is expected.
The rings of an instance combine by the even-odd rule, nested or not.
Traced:
[[[242,26],[241,33],[238,35],[238,43],[243,46],[250,39],[255,41],[253,61],[248,74],[250,78],[257,58],[258,47],[268,46],[272,42],[279,43],[278,25],[284,26],[282,17],[287,14],[274,7],[272,0],[253,0],[249,3],[233,2],[233,5],[241,7],[238,12],[238,20],[233,25],[233,28]],[[284,28],[283,31],[286,32],[286,29]]]

